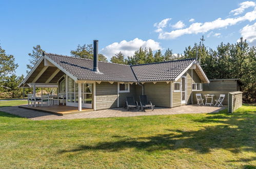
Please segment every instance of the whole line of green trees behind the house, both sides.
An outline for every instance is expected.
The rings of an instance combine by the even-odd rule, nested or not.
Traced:
[[[40,45],[33,47],[29,53],[29,64],[27,73],[33,68],[36,62],[43,55],[44,50]],[[93,59],[93,46],[78,45],[75,50],[70,51],[71,56]],[[132,56],[125,55],[120,51],[111,57],[110,62],[124,65],[149,64],[152,62],[171,61],[176,59],[196,58],[209,79],[239,78],[242,82],[243,100],[247,102],[256,101],[256,50],[249,47],[243,38],[235,44],[221,43],[216,49],[205,47],[204,44],[194,44],[185,48],[183,54],[173,54],[169,48],[162,53],[161,50],[155,52],[151,48],[140,48]],[[100,61],[108,61],[107,57],[99,54]],[[0,46],[0,92],[12,91],[15,97],[21,93],[17,85],[24,79],[24,76],[16,76],[13,55],[8,55]],[[26,89],[31,92],[31,89]],[[27,93],[26,92],[26,93]]]

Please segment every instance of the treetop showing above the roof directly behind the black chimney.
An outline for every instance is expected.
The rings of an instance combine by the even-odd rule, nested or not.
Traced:
[[[75,50],[71,50],[70,52],[71,56],[74,57],[80,57],[80,58],[86,58],[93,60],[93,46],[92,45],[78,45]],[[103,54],[99,53],[98,55],[99,61],[108,61],[107,57],[105,57]]]

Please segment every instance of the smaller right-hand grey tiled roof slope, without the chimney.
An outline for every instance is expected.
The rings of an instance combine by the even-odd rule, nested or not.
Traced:
[[[157,62],[152,64],[131,66],[137,80],[139,81],[165,81],[174,80],[195,59],[173,60]]]

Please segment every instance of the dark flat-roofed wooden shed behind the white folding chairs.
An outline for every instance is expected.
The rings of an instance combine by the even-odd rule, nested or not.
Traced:
[[[211,79],[203,84],[203,91],[241,91],[239,79]]]

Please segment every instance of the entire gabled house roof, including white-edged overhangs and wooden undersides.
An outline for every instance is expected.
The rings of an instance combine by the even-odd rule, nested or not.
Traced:
[[[195,65],[195,71],[203,82],[209,83],[205,73],[196,64],[194,58],[134,66],[99,61],[100,73],[97,73],[93,71],[93,60],[45,53],[19,87],[27,87],[28,83],[31,82],[56,83],[64,74],[75,81],[176,81],[192,65]]]

